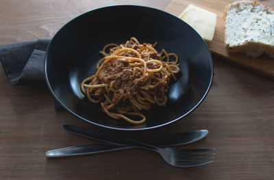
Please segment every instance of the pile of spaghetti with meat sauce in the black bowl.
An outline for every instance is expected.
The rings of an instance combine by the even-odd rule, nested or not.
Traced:
[[[143,123],[146,117],[140,111],[153,104],[165,106],[170,78],[176,80],[179,72],[177,55],[164,49],[159,53],[156,45],[140,44],[135,37],[125,44],[105,45],[97,72],[83,80],[82,92],[110,117]],[[134,116],[140,118],[130,118]]]

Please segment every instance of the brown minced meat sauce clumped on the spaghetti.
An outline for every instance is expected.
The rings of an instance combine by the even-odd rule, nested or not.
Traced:
[[[147,44],[142,45],[147,46]],[[138,48],[138,44],[136,44],[132,40],[127,41],[125,44],[123,44],[123,46],[125,46],[125,48],[133,48],[134,50],[137,50],[144,61],[149,60],[149,58],[160,60],[162,57],[162,55],[158,52],[147,52],[145,50],[142,51],[140,48]],[[114,52],[114,50],[114,48],[111,48],[110,52]],[[126,52],[125,54],[123,54],[123,56],[137,57],[134,52]],[[148,69],[152,70],[159,67],[160,65],[157,63],[147,63]],[[108,76],[112,76],[112,78],[106,78]],[[103,84],[110,84],[110,82],[115,80],[113,87],[114,89],[116,89],[115,92],[111,91],[109,86],[97,89],[95,91],[95,97],[97,97],[97,99],[103,100],[103,94],[108,93],[110,100],[112,100],[112,103],[115,103],[119,99],[121,90],[123,90],[124,95],[121,101],[123,103],[117,104],[115,109],[119,113],[132,111],[132,107],[128,106],[129,101],[127,100],[129,100],[129,98],[131,98],[133,95],[136,95],[136,93],[140,90],[140,87],[142,86],[142,80],[144,78],[144,76],[142,76],[142,72],[136,70],[136,74],[134,74],[133,67],[129,66],[129,63],[118,61],[117,59],[111,59],[101,69],[101,71],[97,75],[97,78],[99,78],[99,80]],[[158,95],[158,97],[160,98],[159,101],[163,102],[164,97],[162,97],[161,95],[163,94],[163,91],[168,88],[169,85],[167,83],[160,83],[157,88],[151,89],[151,91],[147,91],[147,93],[151,95],[151,97],[153,97],[153,95]]]

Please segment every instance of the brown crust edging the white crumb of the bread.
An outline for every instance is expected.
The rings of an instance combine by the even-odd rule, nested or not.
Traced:
[[[234,3],[231,3],[227,6],[225,6],[225,12],[223,14],[223,20],[226,20],[227,17],[227,10],[234,6],[234,5],[240,5],[241,3],[249,3],[253,7],[256,5],[262,5],[262,3],[259,3],[257,1],[235,1]],[[269,11],[273,11],[270,7],[267,7],[266,5],[262,5]],[[225,42],[227,42],[227,23],[225,22]],[[260,57],[262,54],[267,54],[269,57],[274,59],[274,46],[271,46],[270,44],[264,44],[261,42],[246,42],[244,44],[240,44],[237,46],[229,46],[229,44],[225,44],[225,47],[227,48],[228,52],[242,52],[245,53],[247,57],[250,58],[256,58]]]

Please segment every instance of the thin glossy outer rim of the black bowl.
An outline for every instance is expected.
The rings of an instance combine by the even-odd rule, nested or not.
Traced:
[[[188,25],[186,23],[186,25],[188,25],[193,31],[195,31],[200,37],[201,37],[201,40],[203,42],[203,44],[206,45],[206,49],[208,51],[208,54],[209,54],[209,59],[210,59],[210,69],[212,70],[210,72],[210,82],[208,84],[208,88],[206,89],[206,92],[203,94],[203,97],[201,97],[201,100],[199,100],[199,102],[197,102],[197,104],[191,108],[190,110],[188,110],[188,112],[184,113],[184,115],[180,116],[180,117],[177,117],[176,119],[173,119],[172,121],[169,121],[169,122],[166,122],[166,123],[162,123],[160,125],[154,125],[154,126],[151,126],[151,127],[137,127],[137,128],[123,128],[123,127],[111,127],[111,126],[108,126],[108,125],[102,125],[102,124],[99,124],[99,123],[95,123],[93,121],[90,121],[80,115],[77,115],[77,113],[73,112],[73,110],[71,110],[70,108],[68,108],[59,98],[57,95],[55,95],[52,87],[51,87],[51,84],[49,82],[49,78],[48,78],[48,73],[47,73],[47,57],[48,57],[48,54],[49,54],[49,46],[51,46],[52,44],[52,41],[55,39],[55,36],[60,32],[62,31],[62,29],[64,27],[66,27],[67,25],[69,25],[73,20],[79,18],[80,16],[84,16],[85,14],[89,14],[89,13],[92,13],[94,11],[97,11],[97,10],[102,10],[102,9],[105,9],[105,8],[110,8],[110,7],[121,7],[121,6],[130,6],[130,7],[142,7],[142,8],[146,8],[146,9],[151,9],[151,10],[156,10],[156,11],[159,11],[163,14],[169,14],[175,18],[177,18],[178,20],[182,20],[180,18],[178,18],[177,16],[174,16],[173,14],[169,13],[169,12],[165,12],[164,10],[160,10],[160,9],[157,9],[155,7],[148,7],[148,6],[145,6],[145,5],[123,5],[123,4],[120,4],[120,5],[108,5],[108,6],[104,6],[104,7],[98,7],[98,8],[95,8],[93,10],[90,10],[88,12],[84,12],[82,14],[79,14],[78,16],[75,16],[75,18],[72,18],[71,20],[69,20],[69,22],[65,23],[64,25],[62,25],[62,27],[55,33],[55,35],[53,35],[53,37],[51,38],[51,41],[49,42],[49,45],[47,46],[47,50],[46,50],[46,54],[45,54],[45,63],[44,63],[44,71],[45,71],[45,79],[46,79],[46,82],[47,82],[47,87],[49,88],[49,91],[51,92],[51,95],[53,95],[54,99],[62,106],[62,108],[64,108],[65,110],[68,110],[69,112],[71,112],[72,115],[74,115],[75,117],[79,118],[79,119],[82,119],[83,121],[86,121],[86,123],[89,123],[89,124],[92,124],[92,125],[98,125],[99,127],[104,127],[104,128],[107,128],[109,130],[121,130],[121,131],[141,131],[141,130],[153,130],[155,128],[158,128],[158,127],[163,127],[164,125],[169,125],[171,123],[174,123],[175,121],[178,121],[179,119],[182,119],[183,117],[186,117],[186,115],[189,115],[191,112],[193,112],[200,104],[201,102],[203,102],[203,100],[206,98],[206,95],[208,95],[208,92],[210,91],[210,88],[212,86],[212,80],[213,80],[213,76],[214,76],[214,65],[213,65],[213,59],[212,59],[212,54],[210,52],[210,49],[208,48],[208,45],[206,44],[206,42],[203,40],[203,38],[201,37],[201,35],[199,35],[199,33],[197,33],[197,31],[195,29],[193,29],[190,25]],[[184,20],[182,20],[184,22]],[[185,22],[184,22],[185,23]]]

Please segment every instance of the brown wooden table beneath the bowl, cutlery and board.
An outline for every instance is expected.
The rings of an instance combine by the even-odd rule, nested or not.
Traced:
[[[119,3],[164,10],[170,1],[0,0],[0,44],[50,38],[71,18]],[[47,89],[13,86],[0,67],[0,179],[274,179],[274,82],[214,59],[206,100],[190,115],[145,132],[103,130],[55,112]],[[97,143],[62,130],[68,123],[132,137],[207,129],[187,148],[215,148],[214,163],[174,168],[151,151],[132,149],[47,160],[49,149]]]

